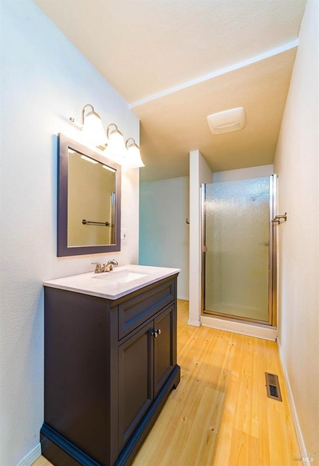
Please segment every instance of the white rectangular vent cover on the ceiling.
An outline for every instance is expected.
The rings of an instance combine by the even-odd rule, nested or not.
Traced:
[[[208,115],[207,122],[213,134],[224,134],[243,129],[246,126],[244,107],[230,108]]]

